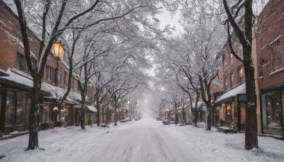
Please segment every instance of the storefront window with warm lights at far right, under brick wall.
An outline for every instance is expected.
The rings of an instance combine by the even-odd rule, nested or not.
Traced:
[[[275,91],[266,94],[266,119],[268,126],[282,126],[282,118],[280,116],[280,92]]]

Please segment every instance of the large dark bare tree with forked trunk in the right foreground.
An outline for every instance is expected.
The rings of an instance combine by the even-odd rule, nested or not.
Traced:
[[[246,76],[246,133],[245,133],[245,148],[251,150],[258,148],[257,139],[257,116],[256,116],[256,84],[254,82],[253,60],[251,58],[251,43],[252,43],[252,28],[254,23],[253,15],[253,0],[234,1],[230,6],[226,0],[223,0],[224,9],[228,19],[226,21],[228,44],[231,48],[231,53],[236,59],[244,64],[244,72]],[[236,18],[244,11],[244,26],[239,26]],[[230,28],[233,28],[234,34],[239,38],[243,46],[244,58],[236,55],[232,43]]]

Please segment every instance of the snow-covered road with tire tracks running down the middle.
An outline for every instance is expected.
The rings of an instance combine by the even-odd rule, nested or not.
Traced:
[[[163,129],[161,121],[142,119],[100,140],[75,161],[197,161],[184,140]]]

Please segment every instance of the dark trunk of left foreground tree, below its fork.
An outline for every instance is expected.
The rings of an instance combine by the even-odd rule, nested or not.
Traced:
[[[38,107],[40,99],[41,77],[33,80],[33,97],[31,98],[28,150],[38,148]]]

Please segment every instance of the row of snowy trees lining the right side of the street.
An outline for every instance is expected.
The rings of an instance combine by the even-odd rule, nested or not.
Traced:
[[[251,29],[253,27],[252,0],[198,0],[198,1],[163,1],[163,5],[173,13],[181,13],[185,33],[177,38],[170,38],[161,45],[162,50],[156,60],[159,82],[170,87],[170,102],[180,102],[175,94],[182,90],[190,98],[193,122],[197,122],[197,102],[202,101],[207,106],[207,130],[211,129],[209,109],[212,107],[212,92],[210,87],[218,77],[223,45],[227,42],[231,53],[244,64],[246,75],[246,137],[245,148],[258,148],[256,126],[256,90],[254,69],[251,59]],[[239,18],[244,17],[244,26],[239,26]],[[225,27],[225,28],[224,28]],[[231,30],[231,28],[233,30]],[[227,35],[227,36],[226,36]],[[244,58],[234,52],[231,36],[239,38],[243,46]],[[175,81],[173,81],[175,80]],[[175,86],[176,85],[176,86]],[[180,90],[173,87],[180,87]],[[195,105],[192,105],[192,101]],[[176,108],[175,108],[176,109]],[[177,112],[175,112],[177,116]]]

